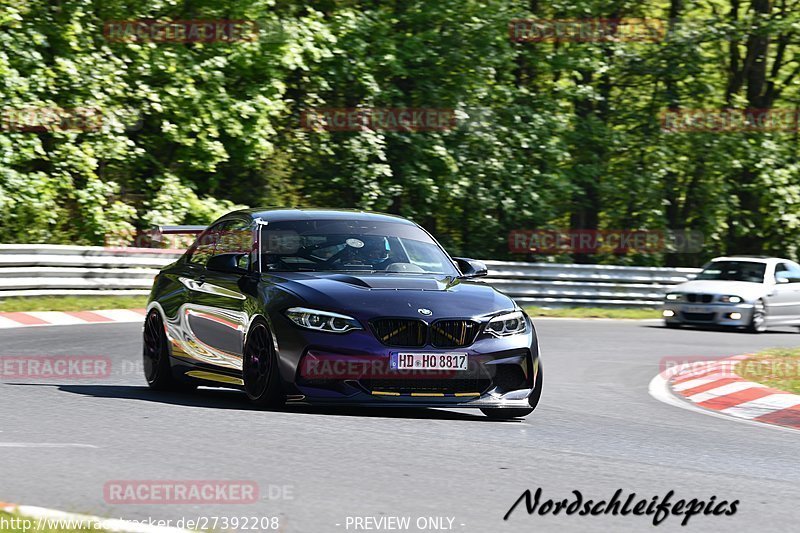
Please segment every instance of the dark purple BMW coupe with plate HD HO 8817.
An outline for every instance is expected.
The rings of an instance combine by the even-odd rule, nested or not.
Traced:
[[[424,229],[361,211],[244,210],[158,274],[151,387],[243,389],[256,404],[530,414],[542,367],[514,301]]]

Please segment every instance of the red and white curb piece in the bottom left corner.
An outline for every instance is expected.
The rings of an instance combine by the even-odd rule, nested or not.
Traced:
[[[51,529],[113,531],[118,533],[190,533],[188,529],[163,527],[148,523],[116,518],[101,518],[85,514],[67,513],[32,505],[14,505],[0,502],[0,511],[14,515],[14,519],[28,520],[28,531],[50,531]],[[7,520],[11,520],[10,518]],[[20,527],[13,531],[23,531]],[[5,530],[4,530],[5,531]]]

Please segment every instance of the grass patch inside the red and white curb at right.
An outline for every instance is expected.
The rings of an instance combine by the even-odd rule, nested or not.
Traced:
[[[800,348],[771,348],[736,365],[736,373],[748,381],[800,394]]]

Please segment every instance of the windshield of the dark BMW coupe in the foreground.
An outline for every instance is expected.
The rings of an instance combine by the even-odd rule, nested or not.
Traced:
[[[364,220],[270,222],[261,228],[262,272],[385,272],[458,276],[417,226]]]

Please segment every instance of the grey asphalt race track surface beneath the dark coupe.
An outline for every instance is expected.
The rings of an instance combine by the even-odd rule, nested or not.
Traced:
[[[798,528],[800,434],[656,401],[663,357],[800,344],[800,333],[667,330],[653,322],[541,320],[542,403],[524,421],[472,411],[259,411],[241,393],[150,391],[137,324],[0,330],[0,355],[107,355],[92,381],[0,380],[0,500],[146,520],[279,516],[281,531],[389,531],[348,517],[451,517],[452,530],[642,531],[645,516],[529,516],[543,500],[739,500],[734,516],[669,517],[657,531]],[[110,480],[253,480],[255,504],[111,505]],[[289,493],[270,499],[269,487]],[[273,497],[276,494],[272,494]],[[448,523],[444,521],[445,525]],[[338,525],[337,525],[338,524]],[[435,530],[435,529],[434,529]],[[423,531],[426,531],[423,529]],[[439,530],[441,531],[441,529]]]

